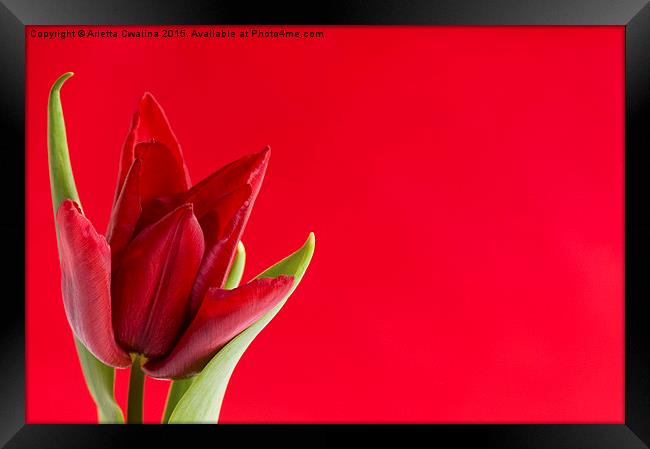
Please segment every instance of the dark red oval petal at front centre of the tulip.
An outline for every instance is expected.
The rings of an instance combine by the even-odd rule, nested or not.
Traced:
[[[126,248],[113,280],[113,325],[123,348],[148,358],[171,350],[190,319],[189,294],[203,248],[189,204],[144,229]]]

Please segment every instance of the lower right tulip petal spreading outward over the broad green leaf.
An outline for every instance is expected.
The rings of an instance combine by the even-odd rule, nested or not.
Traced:
[[[255,279],[234,290],[210,289],[172,352],[150,360],[144,371],[158,378],[198,373],[233,337],[271,310],[289,292],[291,276]]]

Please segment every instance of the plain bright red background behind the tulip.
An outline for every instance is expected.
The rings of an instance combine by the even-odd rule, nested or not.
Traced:
[[[194,182],[273,148],[246,277],[316,233],[303,283],[235,370],[223,422],[623,422],[623,28],[318,29],[28,28],[27,420],[96,420],[60,297],[46,157],[48,91],[74,71],[72,165],[99,230],[148,90]],[[148,381],[147,421],[166,387]]]

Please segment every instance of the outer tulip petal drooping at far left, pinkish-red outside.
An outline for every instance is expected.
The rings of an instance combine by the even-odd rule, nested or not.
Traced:
[[[111,252],[71,200],[56,213],[65,313],[75,336],[103,363],[125,367],[131,357],[115,342],[111,322]]]

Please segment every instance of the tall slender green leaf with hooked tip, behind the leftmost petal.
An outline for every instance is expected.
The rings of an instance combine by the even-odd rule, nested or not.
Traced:
[[[72,72],[68,72],[56,80],[50,91],[50,98],[47,104],[48,162],[50,166],[52,206],[54,207],[55,215],[61,202],[67,198],[76,201],[81,208],[81,202],[79,201],[79,195],[70,165],[65,121],[61,106],[61,86],[71,76]],[[56,237],[58,241],[58,229],[56,230]],[[99,422],[123,423],[124,415],[117,402],[115,402],[115,370],[97,360],[76,338],[75,344],[88,391],[97,405]]]

